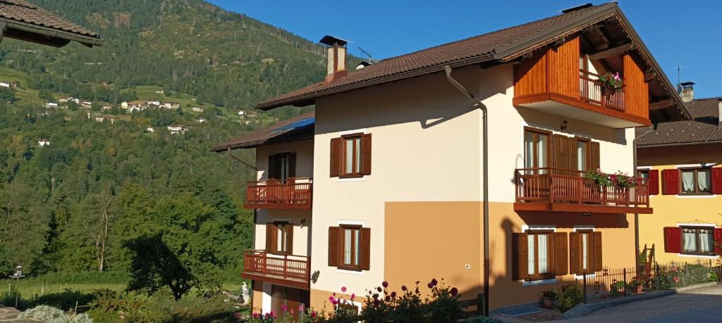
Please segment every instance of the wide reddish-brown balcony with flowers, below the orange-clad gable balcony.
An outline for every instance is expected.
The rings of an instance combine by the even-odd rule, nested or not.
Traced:
[[[516,169],[515,211],[651,214],[649,187],[635,179],[634,187],[603,186],[570,169]]]

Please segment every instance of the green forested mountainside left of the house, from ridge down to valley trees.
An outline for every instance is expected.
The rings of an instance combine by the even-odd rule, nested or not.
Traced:
[[[30,1],[105,43],[0,45],[0,81],[19,83],[0,88],[0,275],[16,265],[27,275],[129,273],[139,250],[158,242],[201,286],[238,277],[253,222],[242,181],[252,174],[209,147],[304,110],[261,113],[251,123],[232,114],[320,80],[323,50],[200,0]],[[160,89],[188,103],[118,110]],[[60,97],[94,105],[43,107]],[[191,102],[205,112],[189,112]],[[97,122],[101,104],[123,118]],[[207,122],[196,123],[199,116]],[[171,134],[171,123],[190,130]],[[237,154],[253,161],[253,151]]]

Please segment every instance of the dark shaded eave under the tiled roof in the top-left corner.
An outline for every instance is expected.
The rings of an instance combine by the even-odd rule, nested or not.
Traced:
[[[88,47],[103,45],[103,40],[101,40],[100,37],[67,32],[2,17],[0,17],[0,30],[4,30],[1,34],[3,37],[53,47],[63,47],[71,41],[76,41]]]

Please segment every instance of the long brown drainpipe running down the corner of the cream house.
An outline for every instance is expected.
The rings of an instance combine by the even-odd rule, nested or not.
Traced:
[[[474,102],[474,107],[482,110],[482,122],[484,129],[482,139],[482,159],[484,166],[482,167],[482,173],[484,181],[482,184],[484,190],[484,316],[489,316],[489,127],[487,117],[487,107],[482,103],[480,99],[474,97],[466,87],[461,85],[456,79],[451,76],[451,66],[445,65],[444,71],[446,72],[446,79],[456,87],[462,94],[471,99]]]

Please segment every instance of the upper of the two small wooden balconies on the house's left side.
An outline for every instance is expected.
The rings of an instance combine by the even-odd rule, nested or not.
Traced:
[[[293,177],[286,180],[248,182],[245,208],[296,208],[310,210],[313,201],[313,180]]]

